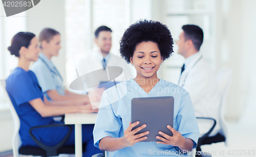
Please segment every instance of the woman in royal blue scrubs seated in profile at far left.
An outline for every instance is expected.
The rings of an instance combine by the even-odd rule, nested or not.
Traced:
[[[18,66],[11,72],[6,80],[6,90],[20,120],[19,135],[23,146],[37,146],[29,135],[29,129],[34,126],[57,124],[52,116],[66,113],[90,113],[94,112],[90,104],[80,106],[67,106],[76,104],[77,101],[48,101],[41,91],[34,72],[29,70],[31,61],[38,59],[40,49],[37,39],[29,32],[19,32],[13,38],[8,47],[11,55],[18,58]],[[93,145],[94,125],[82,126],[82,142],[87,143],[84,156],[91,156],[100,152]],[[72,134],[65,145],[74,145],[74,125]],[[33,134],[42,143],[53,146],[63,139],[68,133],[67,127],[47,127],[34,130]]]

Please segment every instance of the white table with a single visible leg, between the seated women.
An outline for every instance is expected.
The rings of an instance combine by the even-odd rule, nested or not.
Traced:
[[[97,113],[65,114],[65,124],[75,124],[75,156],[82,157],[82,124],[95,124]]]

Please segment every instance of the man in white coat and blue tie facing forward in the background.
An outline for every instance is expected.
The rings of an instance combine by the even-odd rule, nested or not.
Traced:
[[[85,89],[80,88],[83,84],[76,82],[76,87],[79,87],[79,89],[74,92],[86,94],[94,87],[99,86],[101,82],[123,82],[134,78],[125,60],[110,53],[112,46],[111,33],[112,30],[105,25],[97,28],[94,39],[97,48],[74,56],[70,62],[68,61],[71,64],[68,64],[69,66],[66,64],[70,85],[78,77],[83,78]]]

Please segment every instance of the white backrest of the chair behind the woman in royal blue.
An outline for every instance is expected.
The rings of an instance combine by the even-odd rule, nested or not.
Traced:
[[[13,123],[14,123],[14,133],[13,133],[13,137],[12,137],[12,150],[13,150],[13,157],[18,157],[19,153],[18,153],[18,148],[20,147],[20,145],[22,145],[22,141],[20,140],[19,137],[19,127],[20,127],[20,121],[18,118],[18,115],[16,113],[16,110],[13,107],[13,104],[11,102],[11,99],[9,98],[9,95],[6,91],[6,81],[5,80],[0,80],[2,87],[4,88],[4,91],[6,93],[7,96],[7,100],[9,103],[9,107],[10,107],[10,111],[12,114],[12,118],[13,118]]]

